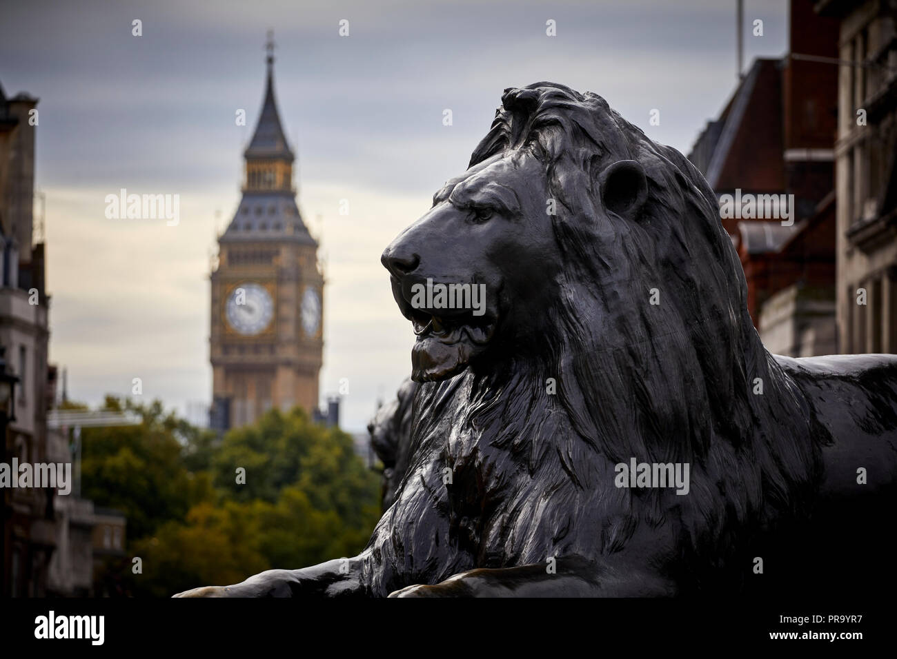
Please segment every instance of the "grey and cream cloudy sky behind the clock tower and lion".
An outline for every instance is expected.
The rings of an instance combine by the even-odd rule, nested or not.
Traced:
[[[409,373],[414,339],[379,254],[464,169],[501,91],[596,91],[688,152],[735,86],[735,4],[0,0],[0,84],[40,99],[50,358],[70,396],[100,403],[141,377],[144,397],[193,417],[210,401],[209,259],[239,203],[266,30],[300,209],[327,263],[321,393],[349,378],[343,425],[357,431]],[[783,0],[745,0],[745,67],[785,52],[787,24]],[[239,108],[248,126],[235,126]],[[179,194],[179,225],[106,219],[104,197],[122,187]]]

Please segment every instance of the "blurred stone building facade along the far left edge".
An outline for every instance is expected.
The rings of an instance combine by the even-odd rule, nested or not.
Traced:
[[[4,456],[47,462],[48,304],[44,246],[32,240],[34,143],[38,100],[0,87],[0,345],[19,382],[3,438]],[[9,464],[9,462],[7,463]],[[56,549],[52,490],[13,488],[3,495],[3,594],[46,593]]]

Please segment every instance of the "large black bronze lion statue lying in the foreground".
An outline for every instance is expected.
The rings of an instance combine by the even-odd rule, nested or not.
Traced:
[[[766,351],[710,187],[596,94],[506,90],[382,262],[420,384],[367,548],[182,595],[893,585],[897,357]]]

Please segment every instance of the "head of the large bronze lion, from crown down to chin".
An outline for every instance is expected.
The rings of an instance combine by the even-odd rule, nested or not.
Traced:
[[[744,277],[701,175],[596,94],[558,84],[505,91],[469,169],[382,261],[414,323],[417,381],[487,355],[495,369],[698,338],[696,326],[715,343],[744,339]],[[483,313],[415,304],[427,282],[482,286]]]

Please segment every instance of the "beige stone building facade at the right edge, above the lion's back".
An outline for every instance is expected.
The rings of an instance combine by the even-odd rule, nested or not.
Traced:
[[[819,2],[838,38],[838,351],[897,352],[897,0]]]

